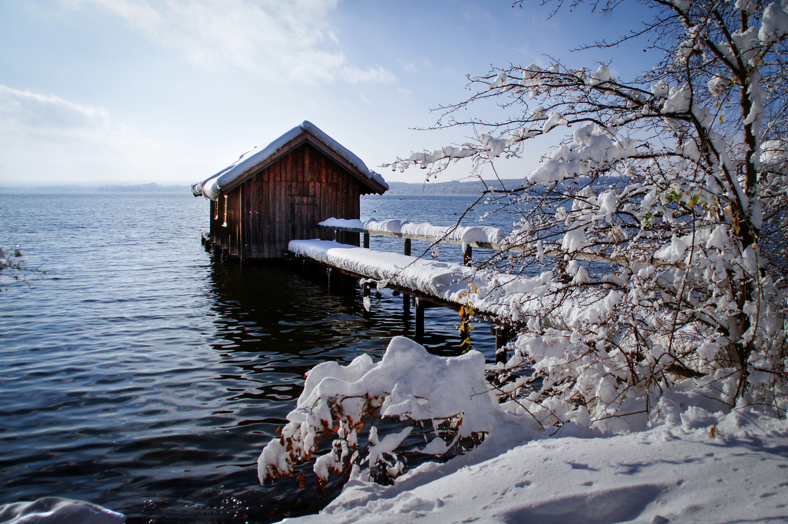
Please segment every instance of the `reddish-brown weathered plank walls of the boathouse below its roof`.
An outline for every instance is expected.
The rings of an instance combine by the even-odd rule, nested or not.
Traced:
[[[334,240],[334,232],[318,222],[359,218],[360,196],[385,191],[353,173],[352,165],[318,139],[304,135],[211,200],[214,249],[241,261],[283,258],[290,240]],[[359,234],[340,232],[336,240],[358,246]]]

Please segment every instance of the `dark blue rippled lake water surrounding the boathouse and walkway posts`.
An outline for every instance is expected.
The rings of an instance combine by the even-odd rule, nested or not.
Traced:
[[[362,217],[451,225],[473,200],[362,197]],[[207,218],[191,195],[0,195],[3,247],[48,272],[0,277],[0,504],[68,496],[131,524],[272,522],[339,492],[335,476],[318,496],[310,464],[306,489],[260,486],[257,457],[310,367],[379,357],[413,317],[390,290],[366,313],[357,282],[329,293],[319,270],[213,262]],[[414,255],[425,248],[414,241]],[[456,354],[457,321],[426,310],[429,351]],[[494,359],[485,325],[472,340]]]

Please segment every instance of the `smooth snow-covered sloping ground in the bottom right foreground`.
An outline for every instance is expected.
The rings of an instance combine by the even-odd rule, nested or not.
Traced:
[[[712,437],[691,410],[607,438],[491,437],[392,486],[349,481],[319,515],[283,522],[788,522],[788,422],[736,411]]]

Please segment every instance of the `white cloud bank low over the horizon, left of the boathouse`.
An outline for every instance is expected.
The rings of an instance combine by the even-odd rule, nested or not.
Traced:
[[[187,182],[208,151],[145,136],[102,107],[0,85],[0,184]]]

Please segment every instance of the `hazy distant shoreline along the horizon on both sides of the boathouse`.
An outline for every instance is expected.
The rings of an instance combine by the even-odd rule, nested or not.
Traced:
[[[490,188],[500,189],[501,183],[506,189],[519,188],[522,180],[504,179],[485,180]],[[389,189],[385,195],[478,195],[484,191],[485,184],[479,180],[461,182],[388,182]],[[76,193],[191,193],[188,185],[162,185],[162,184],[103,184],[103,185],[27,185],[0,187],[0,194],[76,194]]]

